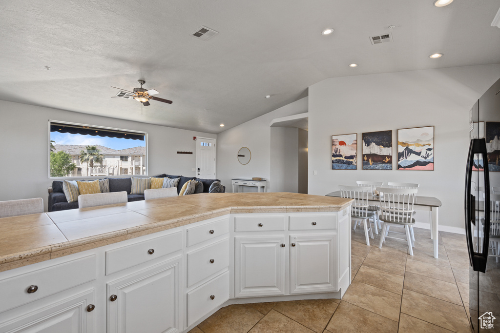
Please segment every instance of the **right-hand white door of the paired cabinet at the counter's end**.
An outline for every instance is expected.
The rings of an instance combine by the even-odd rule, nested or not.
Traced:
[[[337,291],[336,234],[290,236],[290,294]]]

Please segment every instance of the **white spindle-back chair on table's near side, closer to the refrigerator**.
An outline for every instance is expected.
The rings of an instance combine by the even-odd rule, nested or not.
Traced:
[[[408,243],[409,254],[413,255],[413,239],[411,237],[410,226],[415,224],[413,218],[413,203],[415,201],[417,189],[399,189],[399,188],[379,188],[383,193],[379,197],[381,214],[379,219],[383,222],[382,234],[378,248],[382,248],[385,238],[401,240],[397,237],[388,236],[386,233],[389,226],[402,226],[406,233],[406,242]]]

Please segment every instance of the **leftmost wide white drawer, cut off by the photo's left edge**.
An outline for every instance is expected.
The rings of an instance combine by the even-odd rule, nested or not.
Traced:
[[[95,255],[2,280],[0,297],[9,301],[0,302],[0,313],[92,280]],[[36,286],[36,291],[28,294],[30,286]]]

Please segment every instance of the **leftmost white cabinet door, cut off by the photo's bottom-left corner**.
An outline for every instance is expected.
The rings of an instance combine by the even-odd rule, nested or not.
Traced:
[[[67,293],[67,291],[62,292],[61,295],[67,295]],[[93,290],[89,290],[59,302],[48,305],[40,304],[41,310],[28,312],[18,318],[0,323],[0,332],[92,333],[96,310],[88,312],[87,307],[93,304],[93,297]]]

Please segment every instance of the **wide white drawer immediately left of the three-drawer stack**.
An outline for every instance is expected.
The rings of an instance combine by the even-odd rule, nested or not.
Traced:
[[[106,251],[106,275],[180,250],[182,231]]]

